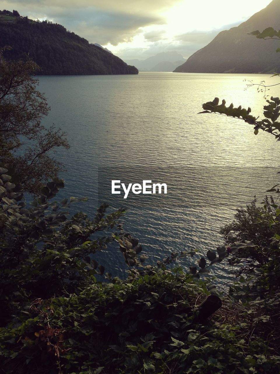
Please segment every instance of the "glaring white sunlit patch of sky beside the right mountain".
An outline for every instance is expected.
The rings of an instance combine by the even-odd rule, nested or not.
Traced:
[[[183,0],[175,4],[168,11],[162,13],[165,23],[162,25],[150,25],[139,28],[139,34],[131,42],[111,44],[106,47],[113,53],[120,53],[125,49],[149,48],[151,42],[144,35],[151,31],[163,30],[164,43],[178,43],[177,36],[194,30],[211,31],[221,29],[223,26],[234,23],[242,23],[254,13],[263,9],[271,0],[208,0],[190,1]],[[157,42],[161,42],[159,39]]]

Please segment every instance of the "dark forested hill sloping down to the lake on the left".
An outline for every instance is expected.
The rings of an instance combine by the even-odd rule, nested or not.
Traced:
[[[138,74],[134,66],[89,44],[87,40],[49,21],[32,21],[18,12],[0,11],[0,48],[7,59],[29,56],[42,68],[39,74]]]

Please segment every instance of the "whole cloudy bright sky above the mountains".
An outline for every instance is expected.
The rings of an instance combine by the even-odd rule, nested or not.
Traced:
[[[0,9],[62,24],[123,60],[176,51],[188,58],[271,0],[0,0]]]

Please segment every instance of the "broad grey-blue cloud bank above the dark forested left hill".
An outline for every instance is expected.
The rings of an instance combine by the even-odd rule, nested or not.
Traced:
[[[141,33],[140,28],[164,24],[161,12],[172,4],[173,0],[0,0],[0,9],[49,19],[89,42],[117,45],[131,41]]]

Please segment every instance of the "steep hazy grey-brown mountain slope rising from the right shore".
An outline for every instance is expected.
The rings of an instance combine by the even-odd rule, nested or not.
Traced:
[[[233,5],[234,6],[234,5]],[[229,10],[230,11],[230,10]],[[175,73],[273,73],[280,71],[279,40],[248,35],[267,27],[280,29],[280,0],[273,0],[246,22],[219,33],[206,47],[178,66]]]

